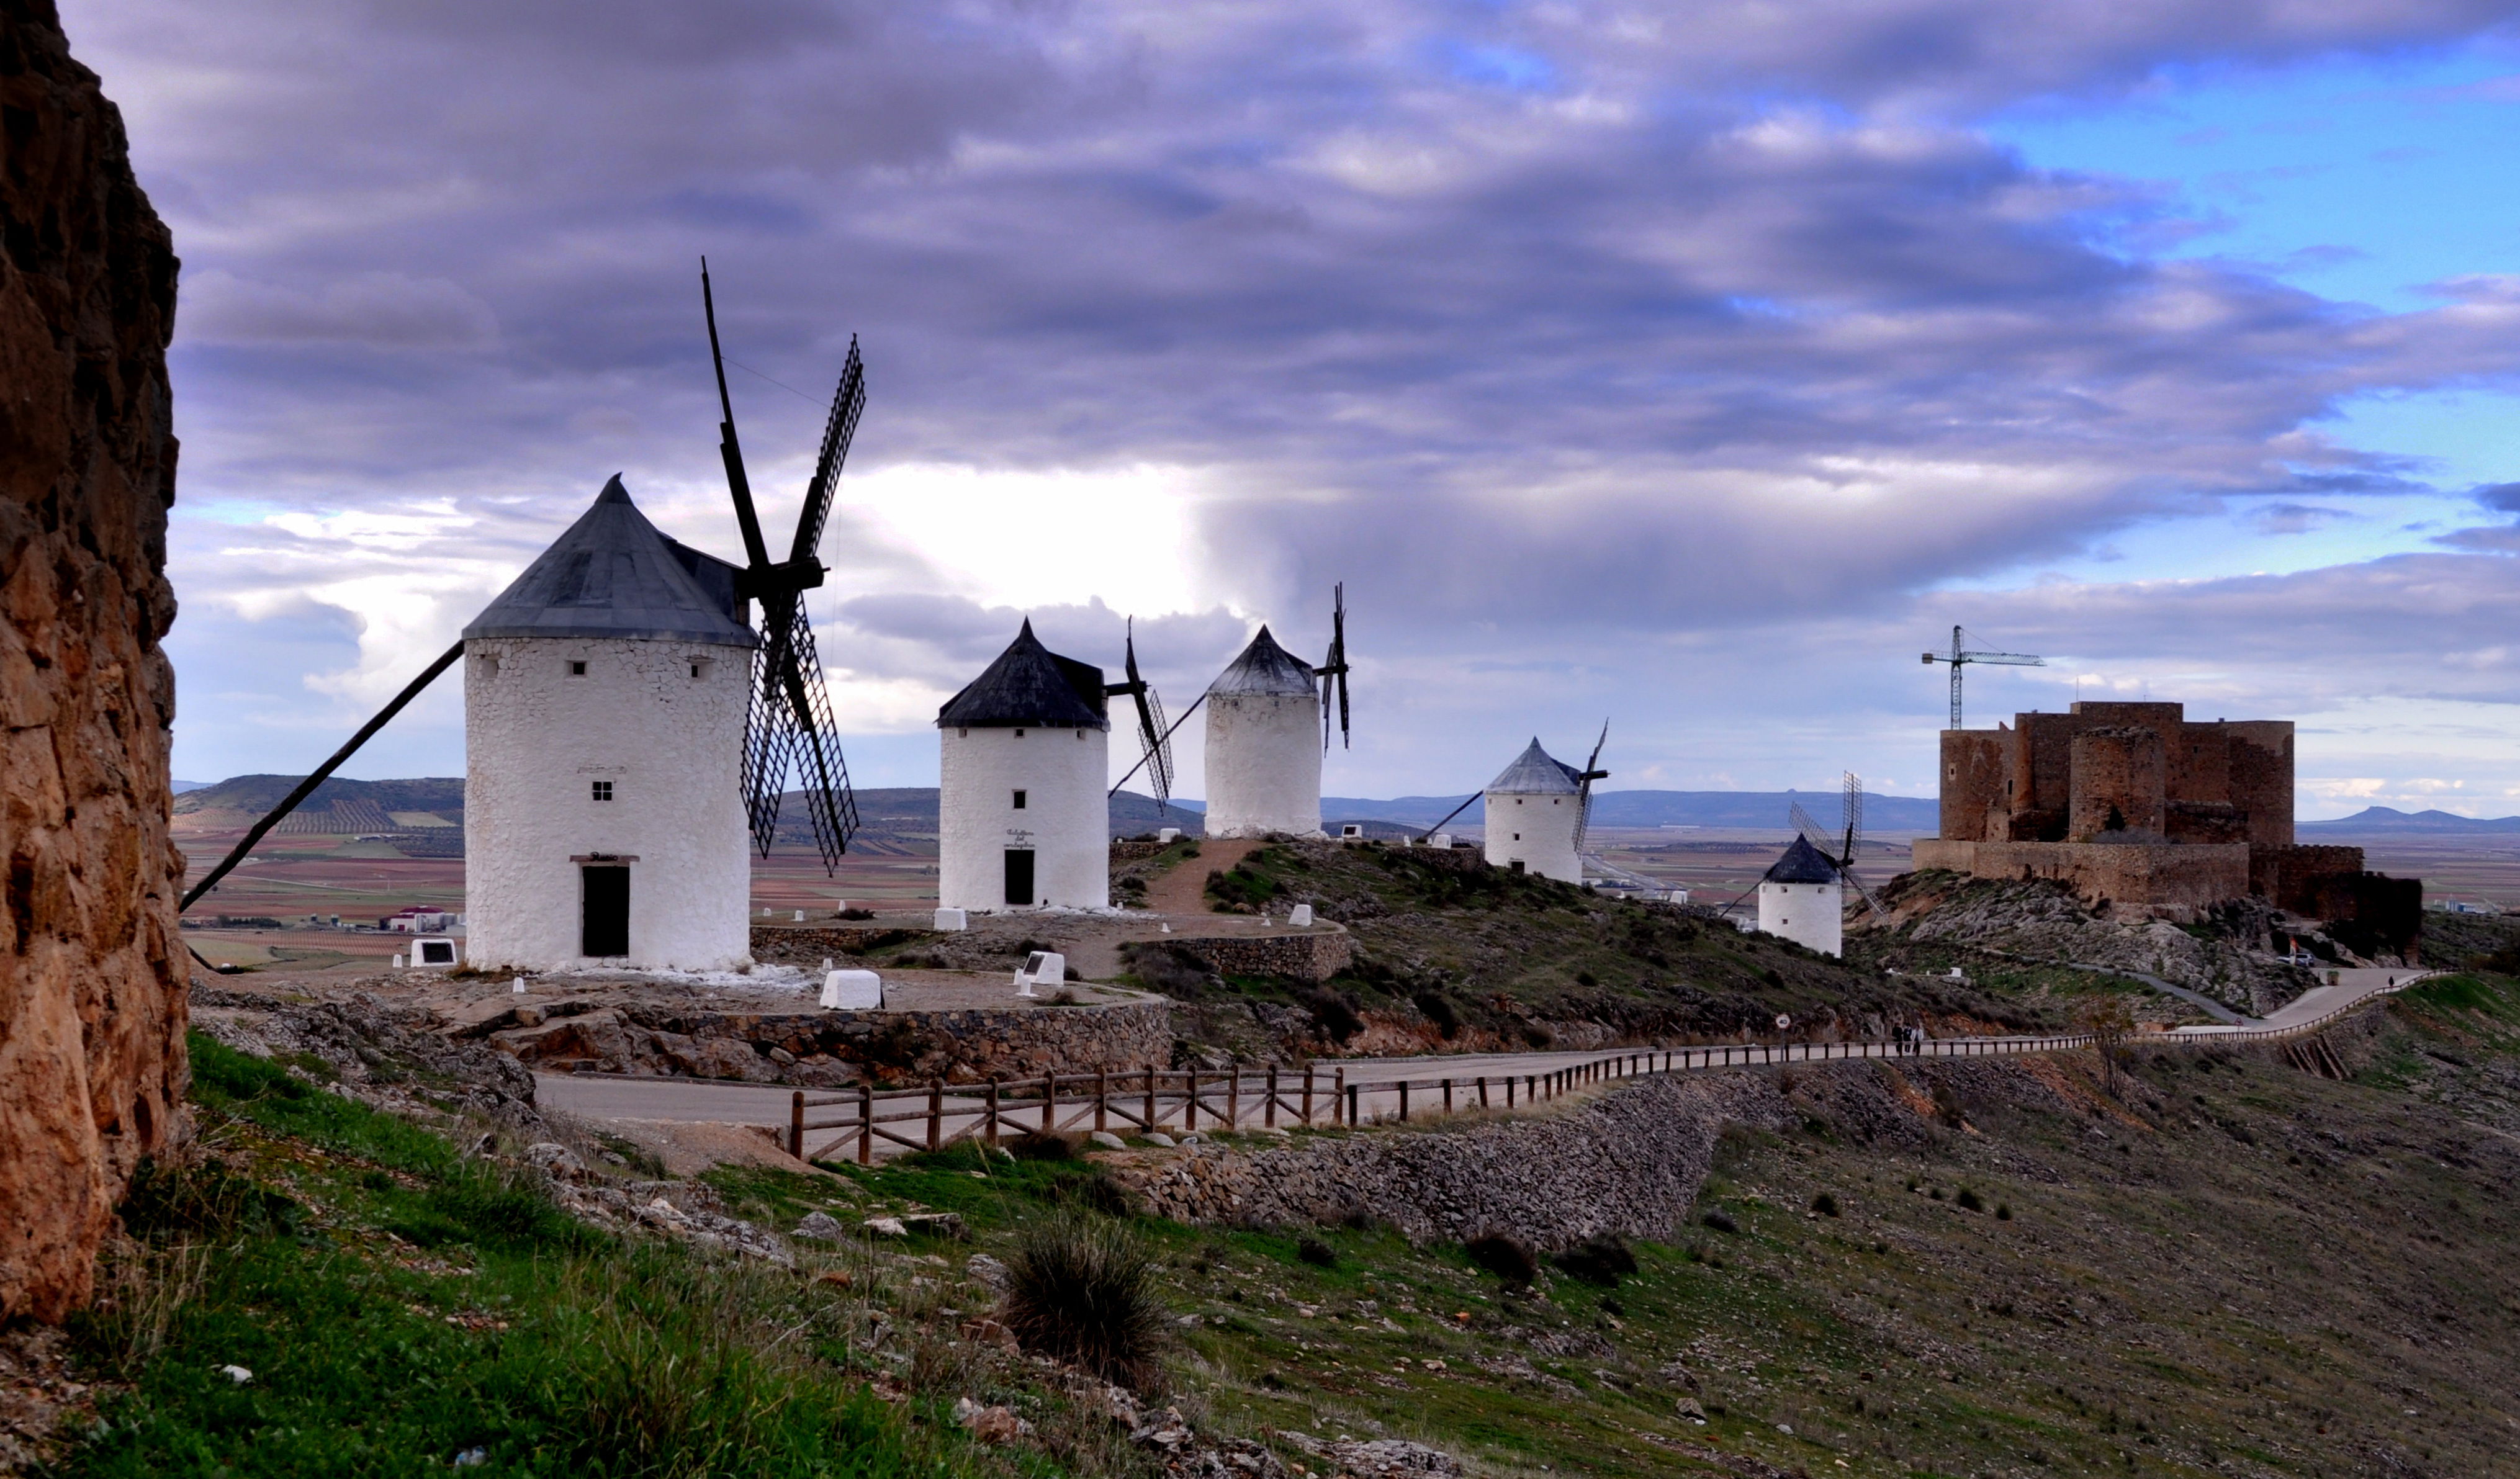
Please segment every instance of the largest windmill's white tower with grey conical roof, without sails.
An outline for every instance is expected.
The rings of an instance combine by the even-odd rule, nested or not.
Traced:
[[[464,627],[471,965],[751,962],[741,610],[615,476]]]

